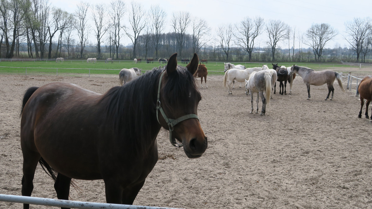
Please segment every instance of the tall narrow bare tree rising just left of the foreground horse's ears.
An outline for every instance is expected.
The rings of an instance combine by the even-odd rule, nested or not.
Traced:
[[[158,58],[160,39],[166,26],[167,13],[159,4],[151,5],[149,15],[151,17],[151,37],[155,48],[155,58]]]

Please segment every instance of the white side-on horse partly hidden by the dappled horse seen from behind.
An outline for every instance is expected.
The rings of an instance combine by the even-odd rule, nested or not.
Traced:
[[[225,72],[224,76],[224,87],[226,87],[226,81],[229,79],[228,83],[228,92],[229,94],[232,94],[231,90],[231,84],[234,81],[237,82],[244,82],[244,80],[249,78],[249,75],[254,71],[261,71],[262,68],[256,67],[256,68],[246,68],[244,70],[241,69],[228,69]]]

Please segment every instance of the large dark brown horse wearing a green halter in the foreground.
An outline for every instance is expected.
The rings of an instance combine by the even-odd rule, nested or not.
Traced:
[[[108,203],[132,204],[158,160],[161,127],[187,157],[201,157],[207,137],[196,115],[198,62],[195,53],[178,66],[175,53],[166,66],[103,95],[60,82],[29,88],[21,110],[22,195],[31,196],[39,162],[58,199],[68,199],[71,178],[103,179]]]

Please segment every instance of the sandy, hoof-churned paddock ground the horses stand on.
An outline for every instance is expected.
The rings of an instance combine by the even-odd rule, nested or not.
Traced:
[[[207,79],[209,88],[201,89],[198,114],[208,136],[208,149],[201,158],[188,159],[161,130],[160,159],[135,205],[372,208],[372,123],[357,118],[360,101],[355,87],[342,92],[336,81],[334,100],[324,101],[327,86],[311,86],[311,99],[307,100],[306,86],[298,76],[293,94],[274,95],[266,116],[260,116],[249,113],[250,97],[243,88],[228,95],[222,75]],[[0,75],[1,194],[21,195],[19,112],[23,92],[55,81],[99,93],[119,85],[116,76]],[[343,78],[344,88],[346,81]],[[71,188],[70,200],[105,202],[102,180],[77,182],[80,189]],[[40,166],[32,196],[56,198],[53,181]],[[0,202],[0,208],[22,205]]]

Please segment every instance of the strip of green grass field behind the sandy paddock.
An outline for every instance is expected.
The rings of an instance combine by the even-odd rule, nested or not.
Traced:
[[[235,65],[244,65],[246,68],[253,68],[267,64],[269,68],[272,67],[271,63],[247,63],[247,62],[234,62]],[[313,63],[278,63],[278,65],[299,65],[312,68],[314,70],[324,68],[340,68],[350,67],[349,65],[340,65],[337,63],[313,64]],[[158,62],[146,63],[133,63],[133,61],[114,61],[114,63],[105,63],[105,61],[97,61],[96,63],[87,63],[86,60],[74,61],[66,60],[64,63],[56,63],[55,61],[13,61],[13,62],[0,62],[0,74],[51,74],[51,75],[78,75],[78,74],[118,74],[118,71],[123,68],[141,68],[143,72],[151,70],[154,67],[163,66],[166,64],[159,64]],[[186,66],[185,64],[179,65]],[[224,74],[223,62],[208,62],[206,64],[209,74]],[[217,71],[217,72],[214,72]]]

